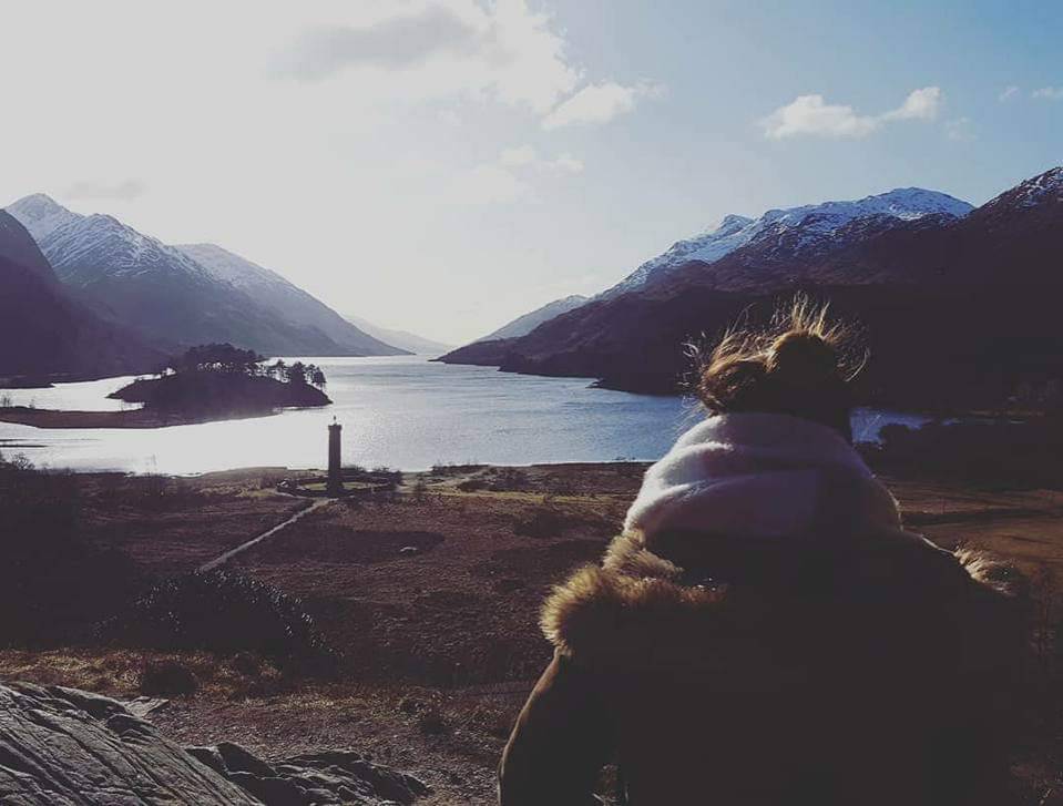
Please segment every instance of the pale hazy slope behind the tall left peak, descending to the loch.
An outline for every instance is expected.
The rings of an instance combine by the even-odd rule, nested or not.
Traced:
[[[315,328],[345,350],[356,355],[391,356],[407,350],[386,344],[341,317],[317,297],[307,294],[276,272],[214,244],[176,247],[214,277],[235,286],[278,318]]]

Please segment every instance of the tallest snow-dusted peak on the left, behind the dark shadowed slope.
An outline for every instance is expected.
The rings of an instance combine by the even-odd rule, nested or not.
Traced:
[[[267,355],[380,355],[290,322],[184,252],[108,215],[79,215],[37,194],[9,207],[59,279],[101,316],[167,349],[228,341]],[[371,343],[369,343],[371,344]]]

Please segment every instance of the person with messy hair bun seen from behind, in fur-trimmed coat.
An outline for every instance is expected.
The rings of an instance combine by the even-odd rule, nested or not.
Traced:
[[[601,565],[542,615],[553,661],[501,806],[1002,806],[1022,652],[1008,574],[907,531],[852,446],[846,328],[797,299],[701,361],[707,417]]]

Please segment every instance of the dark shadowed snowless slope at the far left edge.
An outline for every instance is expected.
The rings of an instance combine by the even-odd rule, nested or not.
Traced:
[[[163,354],[71,299],[37,243],[0,211],[0,375],[147,371]]]

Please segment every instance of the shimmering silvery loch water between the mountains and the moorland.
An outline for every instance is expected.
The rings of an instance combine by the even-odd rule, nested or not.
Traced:
[[[326,425],[344,424],[344,461],[422,470],[436,463],[656,459],[698,414],[689,400],[589,388],[586,379],[510,375],[426,358],[311,358],[334,405],[273,417],[156,429],[38,429],[0,422],[0,451],[74,470],[197,473],[249,466],[320,468]],[[120,409],[130,378],[2,392],[16,405]],[[858,439],[924,418],[861,410]]]

